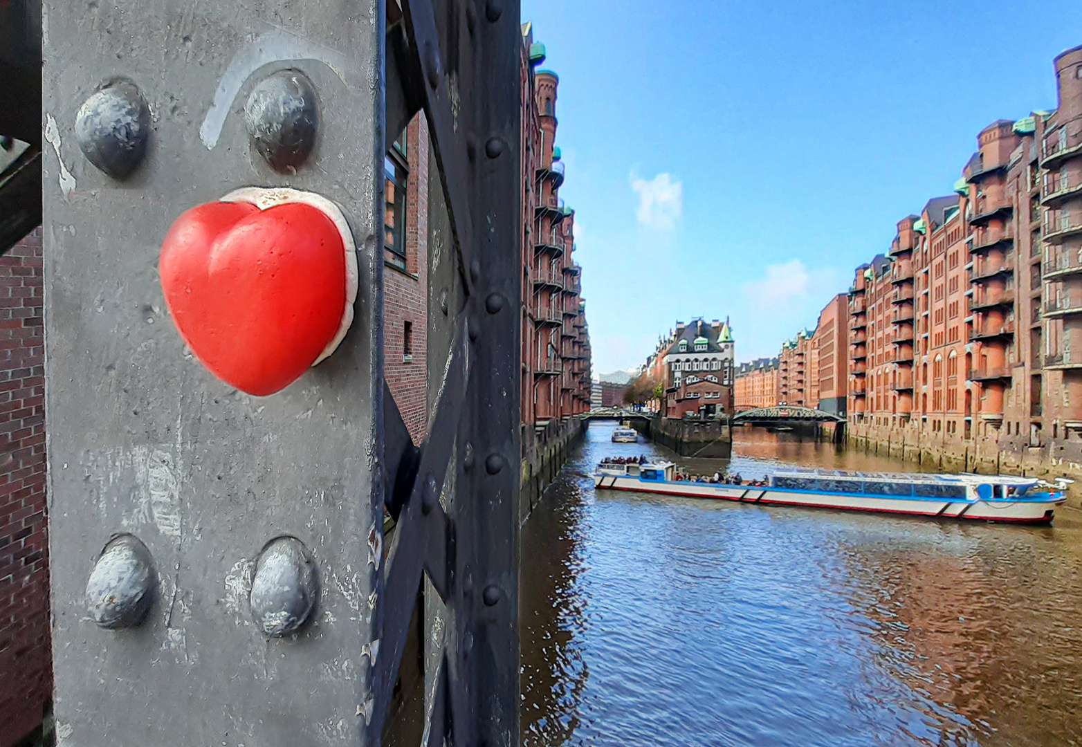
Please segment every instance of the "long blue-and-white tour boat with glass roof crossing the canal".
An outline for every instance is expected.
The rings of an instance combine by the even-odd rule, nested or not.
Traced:
[[[850,472],[787,469],[765,484],[726,484],[676,480],[672,462],[603,462],[594,485],[699,498],[764,505],[806,506],[852,511],[909,513],[944,519],[1048,523],[1066,501],[1070,480],[1050,484],[1037,478],[987,475]]]

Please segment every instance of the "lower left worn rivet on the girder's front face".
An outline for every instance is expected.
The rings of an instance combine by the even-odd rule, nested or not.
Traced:
[[[130,534],[102,549],[87,581],[87,606],[100,628],[134,628],[146,617],[158,590],[158,574],[146,545]]]

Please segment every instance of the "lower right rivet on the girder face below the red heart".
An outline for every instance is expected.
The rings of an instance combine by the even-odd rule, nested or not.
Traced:
[[[272,638],[299,630],[319,598],[316,564],[296,537],[267,543],[255,564],[248,602],[260,629]]]

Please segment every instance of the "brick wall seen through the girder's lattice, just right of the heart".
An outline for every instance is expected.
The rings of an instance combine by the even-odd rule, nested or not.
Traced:
[[[383,268],[383,372],[395,404],[414,443],[425,436],[428,345],[428,125],[424,115],[409,123],[406,136],[406,271]],[[405,326],[412,325],[405,360]]]

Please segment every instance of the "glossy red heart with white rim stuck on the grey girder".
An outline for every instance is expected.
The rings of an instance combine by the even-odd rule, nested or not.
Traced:
[[[161,244],[176,329],[222,381],[272,395],[333,352],[353,320],[353,238],[329,200],[240,189],[193,208]]]

